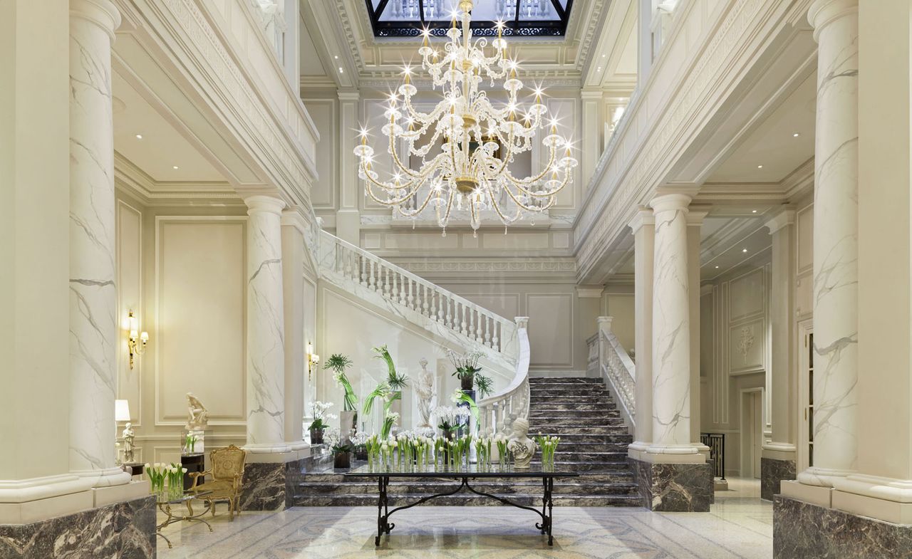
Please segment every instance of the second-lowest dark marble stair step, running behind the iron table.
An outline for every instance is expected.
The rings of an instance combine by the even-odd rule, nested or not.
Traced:
[[[435,483],[421,481],[390,481],[387,492],[390,495],[415,494],[415,493],[440,493],[459,485],[456,481],[440,481]],[[472,481],[472,487],[481,492],[500,493],[513,495],[541,495],[542,482],[538,480],[513,481],[492,483],[487,481]],[[377,492],[375,481],[355,481],[346,483],[329,484],[322,482],[305,481],[298,485],[298,495],[348,495],[371,494]],[[637,492],[637,484],[631,480],[591,482],[591,481],[564,481],[554,482],[555,495],[629,495]]]

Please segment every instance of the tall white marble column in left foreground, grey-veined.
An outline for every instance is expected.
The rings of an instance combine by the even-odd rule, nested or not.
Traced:
[[[116,465],[117,287],[109,0],[69,3],[69,467],[96,486],[130,481]]]

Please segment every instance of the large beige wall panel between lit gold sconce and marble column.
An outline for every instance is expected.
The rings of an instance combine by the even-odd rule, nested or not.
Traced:
[[[210,423],[243,422],[244,231],[239,220],[161,218],[156,421],[182,421],[186,392]]]

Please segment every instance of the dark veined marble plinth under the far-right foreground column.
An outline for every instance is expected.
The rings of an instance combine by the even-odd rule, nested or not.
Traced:
[[[776,495],[774,559],[900,559],[912,557],[912,526],[827,509]]]

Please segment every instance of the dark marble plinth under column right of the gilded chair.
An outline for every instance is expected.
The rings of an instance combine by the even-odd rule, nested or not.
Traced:
[[[304,481],[306,459],[244,466],[242,511],[284,511],[294,505],[295,490]]]

